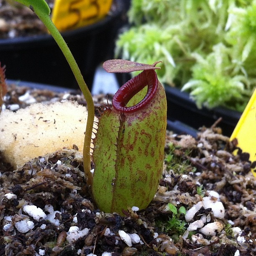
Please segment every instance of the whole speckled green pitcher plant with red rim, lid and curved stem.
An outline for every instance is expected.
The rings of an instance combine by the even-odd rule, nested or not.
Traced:
[[[31,8],[52,34],[66,57],[87,101],[88,119],[84,138],[84,172],[95,203],[105,212],[122,213],[128,207],[145,208],[153,199],[161,178],[166,131],[166,96],[152,65],[110,60],[108,72],[142,70],[113,97],[113,108],[101,115],[94,139],[90,167],[90,143],[94,105],[82,74],[67,44],[52,23],[44,0],[17,0]]]

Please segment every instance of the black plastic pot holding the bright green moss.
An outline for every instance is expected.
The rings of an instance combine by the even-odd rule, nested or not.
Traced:
[[[203,125],[210,127],[218,118],[222,118],[218,124],[222,128],[223,135],[230,136],[238,123],[241,113],[226,108],[198,109],[195,102],[186,92],[177,88],[165,87],[167,98],[167,118],[172,122],[179,122],[185,127],[198,129]],[[182,126],[181,125],[181,126]]]

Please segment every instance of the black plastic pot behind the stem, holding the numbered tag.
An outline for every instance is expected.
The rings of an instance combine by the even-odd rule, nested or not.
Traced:
[[[123,25],[123,0],[99,22],[62,33],[84,79],[92,86],[96,67],[113,58],[115,37]],[[25,80],[77,89],[74,75],[51,35],[0,39],[0,61],[8,79]]]

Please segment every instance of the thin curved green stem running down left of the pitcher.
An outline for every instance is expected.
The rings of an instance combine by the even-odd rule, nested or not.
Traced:
[[[74,59],[74,56],[69,50],[69,47],[67,46],[61,34],[59,33],[58,29],[56,28],[54,23],[51,21],[50,16],[45,13],[38,13],[38,12],[36,12],[36,15],[38,15],[38,17],[42,20],[46,28],[49,30],[49,32],[55,39],[56,43],[58,44],[65,58],[67,59],[69,66],[71,67],[72,72],[77,80],[77,83],[87,102],[88,117],[87,117],[87,125],[86,125],[85,136],[84,136],[83,160],[84,160],[84,174],[87,177],[87,184],[90,186],[92,184],[92,174],[90,172],[91,170],[90,145],[91,145],[91,138],[92,138],[93,122],[94,122],[94,104],[92,100],[92,95],[90,93],[90,90],[87,87],[87,84],[84,82],[84,78],[77,65],[77,62]]]

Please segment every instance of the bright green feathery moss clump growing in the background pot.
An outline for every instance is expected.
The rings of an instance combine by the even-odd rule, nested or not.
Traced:
[[[163,61],[159,80],[197,106],[243,111],[256,86],[256,1],[132,0],[116,55]]]

